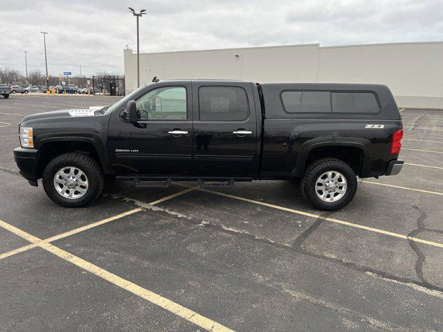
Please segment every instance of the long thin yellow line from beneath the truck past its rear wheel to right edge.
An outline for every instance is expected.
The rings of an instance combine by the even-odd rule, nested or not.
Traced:
[[[187,185],[183,185],[183,186],[186,187]],[[300,214],[302,216],[310,216],[311,218],[315,218],[315,219],[322,219],[322,220],[325,220],[325,221],[331,221],[332,223],[339,223],[341,225],[347,225],[347,226],[350,226],[352,228],[360,228],[361,230],[369,230],[371,232],[376,232],[376,233],[379,233],[379,234],[385,234],[385,235],[388,235],[390,237],[397,237],[399,239],[415,241],[415,242],[419,242],[419,243],[428,244],[429,246],[435,246],[435,247],[443,248],[443,243],[439,243],[439,242],[427,241],[427,240],[424,240],[424,239],[419,239],[417,237],[409,237],[408,235],[398,234],[398,233],[395,233],[395,232],[389,232],[388,230],[380,230],[379,228],[373,228],[373,227],[368,227],[368,226],[365,226],[365,225],[359,225],[358,223],[350,223],[348,221],[343,221],[343,220],[338,220],[338,219],[334,219],[334,218],[329,218],[327,216],[320,216],[319,214],[304,212],[304,211],[300,211],[300,210],[294,210],[294,209],[291,209],[291,208],[284,208],[283,206],[280,206],[280,205],[274,205],[274,204],[271,204],[271,203],[264,203],[264,202],[260,202],[260,201],[255,201],[253,199],[246,199],[245,197],[225,194],[223,192],[215,192],[213,190],[208,190],[208,189],[203,189],[203,188],[197,188],[197,190],[199,190],[201,192],[210,192],[211,194],[216,194],[216,195],[219,195],[219,196],[228,197],[230,199],[237,199],[239,201],[244,201],[244,202],[248,202],[248,203],[254,203],[254,204],[257,204],[257,205],[267,206],[268,208],[273,208],[273,209],[277,209],[277,210],[292,212],[292,213],[295,213],[295,214]],[[442,195],[443,195],[443,193],[442,193]]]

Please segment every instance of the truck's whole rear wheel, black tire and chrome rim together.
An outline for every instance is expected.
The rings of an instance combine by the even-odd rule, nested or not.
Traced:
[[[357,190],[357,179],[347,163],[324,158],[307,167],[300,190],[306,201],[318,210],[335,211],[352,201]]]

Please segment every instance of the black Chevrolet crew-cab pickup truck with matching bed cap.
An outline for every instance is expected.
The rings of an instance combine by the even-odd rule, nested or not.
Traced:
[[[111,107],[26,116],[21,175],[68,207],[104,176],[137,186],[296,180],[320,210],[349,203],[360,178],[398,174],[401,115],[379,84],[180,80],[147,84]]]

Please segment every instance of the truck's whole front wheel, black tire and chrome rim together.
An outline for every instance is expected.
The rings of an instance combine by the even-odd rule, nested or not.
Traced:
[[[96,160],[78,153],[62,154],[51,160],[42,180],[49,198],[69,208],[91,204],[100,196],[105,184]]]

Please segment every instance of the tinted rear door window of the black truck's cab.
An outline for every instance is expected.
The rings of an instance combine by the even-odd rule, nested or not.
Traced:
[[[241,121],[249,116],[246,91],[237,86],[201,86],[199,89],[201,121]]]

